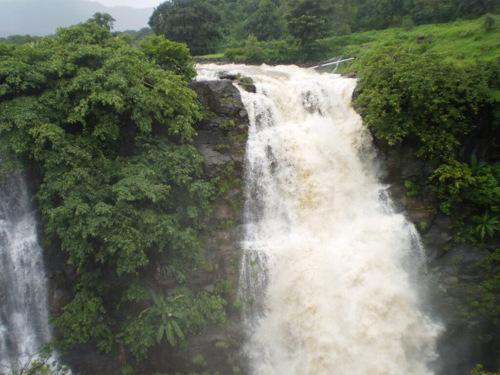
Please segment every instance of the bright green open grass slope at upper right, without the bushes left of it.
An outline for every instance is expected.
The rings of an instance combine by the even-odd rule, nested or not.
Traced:
[[[475,60],[500,58],[500,16],[493,17],[495,23],[489,31],[484,28],[483,16],[473,20],[415,26],[409,31],[396,27],[332,36],[321,39],[320,44],[329,57],[357,57],[349,68],[360,64],[360,58],[371,49],[388,45],[422,53],[439,53],[445,61],[466,65]],[[422,43],[417,42],[418,35],[425,36]]]

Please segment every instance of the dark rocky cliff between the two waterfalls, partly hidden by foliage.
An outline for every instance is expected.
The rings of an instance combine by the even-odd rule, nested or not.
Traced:
[[[241,103],[238,89],[229,80],[191,82],[201,104],[207,111],[206,120],[197,126],[193,145],[204,156],[204,177],[213,180],[217,197],[212,202],[212,214],[206,223],[206,233],[199,238],[201,264],[193,270],[188,286],[194,290],[214,290],[227,300],[227,324],[207,326],[200,334],[188,337],[188,345],[172,348],[156,345],[146,361],[135,363],[124,353],[135,373],[187,373],[220,371],[232,373],[238,366],[239,342],[242,340],[240,314],[233,307],[238,288],[238,264],[241,257],[239,242],[242,234],[242,173],[248,116]],[[66,264],[64,255],[48,249],[49,303],[52,316],[58,316],[70,300],[76,270]],[[161,259],[141,272],[140,279],[153,289],[173,290],[177,281],[161,271]],[[130,282],[123,276],[109,280],[111,292],[123,291]],[[147,306],[144,305],[143,308]],[[197,357],[196,357],[197,356]],[[193,360],[193,358],[196,358]],[[78,344],[61,356],[78,374],[119,374],[119,356],[97,353],[93,344]],[[236,369],[237,371],[237,369]]]

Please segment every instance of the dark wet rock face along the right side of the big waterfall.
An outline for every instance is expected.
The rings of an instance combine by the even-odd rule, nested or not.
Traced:
[[[428,284],[425,304],[436,322],[445,329],[437,342],[439,358],[436,375],[469,375],[476,363],[497,370],[500,354],[500,329],[471,301],[481,296],[476,283],[486,275],[478,264],[500,247],[454,244],[450,216],[439,211],[439,201],[430,188],[432,165],[415,156],[411,141],[389,147],[375,139],[384,170],[382,181],[388,188],[394,209],[403,213],[419,229],[427,255]]]

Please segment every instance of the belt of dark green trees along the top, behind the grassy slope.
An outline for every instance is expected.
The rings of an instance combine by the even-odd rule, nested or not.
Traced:
[[[497,0],[174,0],[155,9],[149,25],[157,35],[185,42],[194,55],[227,51],[235,59],[246,59],[234,48],[253,34],[264,60],[290,62],[322,58],[317,42],[325,36],[411,29],[498,10]]]

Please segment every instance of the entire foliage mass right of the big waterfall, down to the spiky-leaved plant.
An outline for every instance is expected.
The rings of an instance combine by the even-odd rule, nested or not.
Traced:
[[[485,240],[498,230],[500,166],[458,151],[479,122],[485,133],[498,125],[499,70],[497,63],[462,68],[439,55],[397,47],[363,58],[355,104],[364,122],[391,146],[416,146],[416,155],[434,165],[430,180],[441,211],[453,214],[455,240]]]

